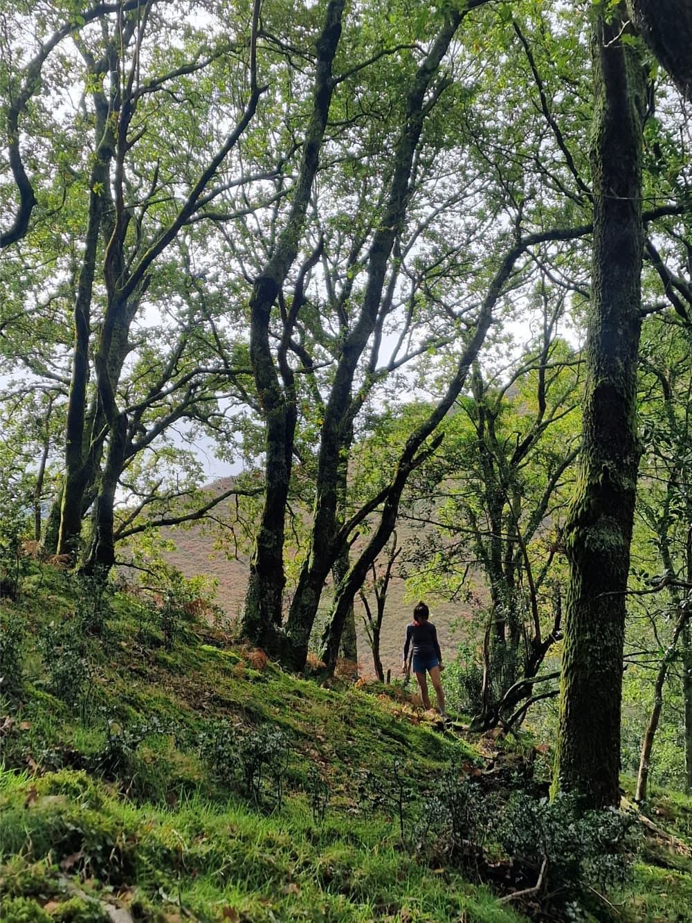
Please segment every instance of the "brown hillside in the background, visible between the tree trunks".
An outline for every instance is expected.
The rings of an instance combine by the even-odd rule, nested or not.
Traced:
[[[207,489],[211,492],[221,493],[228,490],[232,483],[230,478],[223,478],[209,485]],[[400,523],[398,533],[400,542],[404,546],[412,543],[416,528],[420,527],[414,527],[406,521]],[[185,530],[166,529],[163,530],[163,534],[177,546],[175,552],[166,555],[167,560],[180,569],[185,577],[206,574],[218,581],[216,602],[229,618],[238,617],[242,613],[245,602],[249,559],[229,558],[222,552],[214,550],[213,539],[200,526],[193,526]],[[359,545],[360,543],[357,540],[353,549],[355,552],[358,551]],[[323,606],[328,605],[329,599],[330,594],[326,592],[323,598]],[[417,600],[412,599],[410,593],[407,593],[406,583],[401,576],[400,564],[399,567],[395,565],[392,581],[389,585],[387,608],[380,641],[382,664],[385,671],[388,669],[392,671],[392,676],[397,676],[400,672],[401,651],[406,625],[411,620],[412,607],[416,602]],[[455,630],[455,623],[459,622],[460,625],[463,625],[471,617],[470,606],[465,603],[450,604],[444,601],[434,602],[432,600],[428,602],[431,607],[431,619],[435,622],[438,630],[443,657],[451,660],[460,639],[459,628]],[[370,593],[370,605],[375,611],[376,604],[372,593]],[[374,668],[364,631],[363,617],[363,604],[356,598],[359,668],[361,674],[368,677],[374,675]],[[319,627],[317,626],[315,644],[318,642],[318,631]]]

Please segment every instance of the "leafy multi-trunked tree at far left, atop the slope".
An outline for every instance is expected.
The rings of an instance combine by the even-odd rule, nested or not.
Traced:
[[[10,94],[7,117],[11,122],[15,109],[24,115],[29,134],[34,126],[43,134],[29,101],[41,68],[50,76],[46,71],[50,53],[70,39],[86,67],[83,113],[73,114],[74,125],[65,127],[69,124],[67,110],[74,108],[67,101],[61,101],[62,115],[53,116],[52,122],[45,118],[50,126],[46,137],[52,137],[52,132],[56,144],[63,136],[69,139],[57,160],[57,175],[48,161],[44,172],[37,170],[33,180],[39,205],[52,182],[62,180],[66,186],[56,211],[70,237],[70,259],[66,264],[64,247],[63,251],[55,249],[62,237],[48,241],[54,249],[45,247],[43,257],[54,272],[48,282],[53,287],[49,305],[74,300],[71,368],[67,374],[61,372],[63,382],[69,381],[65,477],[45,541],[53,550],[74,555],[84,516],[93,507],[86,566],[106,570],[113,563],[113,503],[125,468],[132,472],[133,461],[141,453],[155,454],[166,431],[179,421],[207,426],[213,414],[218,414],[223,390],[243,392],[233,350],[221,342],[218,333],[212,333],[211,299],[198,290],[190,247],[194,250],[209,240],[201,233],[203,222],[221,220],[222,212],[215,206],[239,185],[232,168],[226,173],[227,158],[252,121],[265,89],[257,84],[258,6],[248,45],[219,37],[226,25],[221,7],[208,6],[206,26],[196,30],[187,26],[184,17],[179,22],[175,18],[166,21],[159,15],[159,6],[156,2],[101,5],[84,17],[70,17],[47,40],[37,40],[39,51],[23,71],[18,70],[18,76],[13,55],[19,60],[20,51],[8,46],[4,57],[6,79],[11,87],[18,86]],[[39,36],[44,28],[42,21],[37,27]],[[78,72],[75,54],[62,54],[59,61],[74,79]],[[203,96],[201,78],[221,77],[221,72],[227,90]],[[59,93],[57,86],[52,91]],[[239,103],[235,124],[224,108],[224,117],[217,120],[219,128],[210,129],[217,107],[228,106],[234,94]],[[181,121],[173,106],[160,105],[163,98],[194,106],[179,107],[185,110]],[[91,146],[90,133],[84,130],[89,123]],[[157,129],[159,138],[167,134],[175,138],[179,156],[157,143]],[[241,169],[238,162],[235,166]],[[265,175],[260,171],[251,181],[261,182]],[[245,209],[249,195],[245,189]],[[22,233],[25,252],[40,234],[45,245],[45,232],[38,225],[32,231],[27,222]],[[9,243],[17,245],[17,240],[8,242],[8,247]],[[178,246],[178,253],[172,245]],[[10,273],[24,270],[17,251],[17,246],[12,252],[5,251],[10,282]],[[40,288],[38,279],[32,288]],[[19,329],[26,326],[20,313],[21,289],[14,286],[11,291],[17,308],[8,327]],[[172,295],[177,318],[169,309]],[[157,315],[159,325],[153,320]],[[45,312],[39,315],[44,330],[45,316]],[[200,335],[198,330],[208,325],[209,334]],[[148,351],[143,335],[138,340],[132,337],[137,327],[139,331],[148,328],[152,335],[158,328],[160,345],[165,348]],[[35,361],[35,354],[24,356],[22,361],[32,375],[49,374],[63,338],[60,331],[56,339],[45,343],[41,363]],[[19,355],[22,353],[26,351]],[[137,353],[142,356],[139,363],[133,358]],[[246,359],[244,364],[247,373]],[[133,378],[128,377],[130,370]],[[161,487],[162,479],[160,492]],[[148,504],[150,508],[152,497]],[[161,506],[165,506],[164,499]]]

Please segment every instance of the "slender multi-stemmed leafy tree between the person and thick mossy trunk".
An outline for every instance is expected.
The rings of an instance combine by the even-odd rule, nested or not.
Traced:
[[[418,592],[463,598],[480,583],[489,596],[478,629],[479,728],[511,720],[561,637],[563,578],[555,565],[577,457],[579,355],[554,338],[560,298],[544,289],[543,297],[543,335],[509,368],[486,377],[476,365],[471,395],[445,426],[439,457],[407,505],[414,521],[429,518],[447,535],[445,545],[435,535],[416,556]]]

